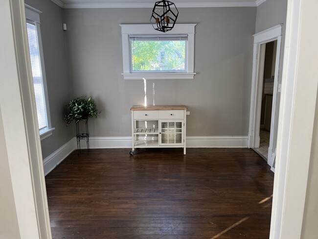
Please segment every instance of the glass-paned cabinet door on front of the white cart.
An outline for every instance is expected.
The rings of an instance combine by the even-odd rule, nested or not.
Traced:
[[[159,145],[182,145],[183,123],[183,120],[160,120]]]

